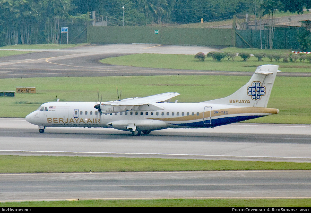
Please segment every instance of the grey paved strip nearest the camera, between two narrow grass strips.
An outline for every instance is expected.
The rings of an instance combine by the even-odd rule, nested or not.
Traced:
[[[0,174],[0,202],[310,198],[311,171]]]

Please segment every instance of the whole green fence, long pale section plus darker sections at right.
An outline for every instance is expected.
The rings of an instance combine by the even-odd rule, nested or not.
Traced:
[[[260,48],[260,30],[218,28],[89,26],[89,43],[158,43],[169,45],[236,46]],[[298,49],[297,28],[275,29],[273,49]],[[235,41],[233,45],[232,40]],[[262,48],[269,48],[268,30],[262,30]]]

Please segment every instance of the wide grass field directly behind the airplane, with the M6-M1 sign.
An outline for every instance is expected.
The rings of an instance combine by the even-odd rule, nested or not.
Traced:
[[[0,79],[0,90],[16,86],[36,87],[36,94],[16,93],[0,97],[0,117],[25,117],[42,103],[56,101],[103,101],[117,99],[116,87],[122,87],[122,98],[145,97],[165,92],[181,95],[178,102],[202,102],[225,97],[246,84],[249,76],[116,76],[116,77],[50,77]],[[276,77],[268,107],[278,108],[278,115],[249,120],[256,123],[310,124],[311,81],[307,77]]]

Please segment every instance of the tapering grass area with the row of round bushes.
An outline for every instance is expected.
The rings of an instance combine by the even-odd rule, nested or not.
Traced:
[[[227,49],[227,48],[226,48]],[[229,52],[228,50],[224,51]],[[222,50],[222,51],[223,51]],[[236,52],[237,48],[233,48],[230,52]],[[244,52],[255,52],[245,49]],[[256,50],[257,51],[257,50]],[[267,51],[267,50],[266,50]],[[262,51],[261,51],[262,52]],[[278,52],[278,51],[276,51]],[[298,60],[299,61],[299,60]],[[181,70],[221,70],[221,71],[245,71],[254,72],[257,66],[264,64],[279,65],[279,70],[284,72],[311,72],[311,63],[305,62],[288,62],[283,63],[270,61],[268,58],[263,58],[262,61],[258,61],[256,57],[251,57],[247,61],[239,56],[234,61],[228,61],[223,59],[220,62],[213,60],[212,58],[206,58],[205,61],[198,61],[194,59],[194,55],[173,55],[173,54],[133,54],[127,56],[105,58],[100,60],[102,63],[124,66],[137,66],[137,67],[153,67],[153,68],[169,68],[169,69],[181,69]]]

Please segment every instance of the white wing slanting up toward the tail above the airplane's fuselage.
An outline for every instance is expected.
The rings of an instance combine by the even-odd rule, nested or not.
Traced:
[[[180,95],[179,93],[161,93],[157,95],[151,95],[147,97],[133,97],[133,98],[127,98],[123,99],[121,101],[115,101],[110,102],[109,105],[112,106],[140,106],[144,104],[150,104],[150,103],[159,103],[159,102],[165,102],[172,97]]]

